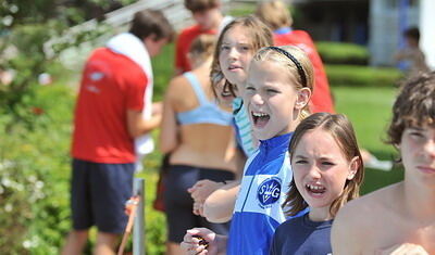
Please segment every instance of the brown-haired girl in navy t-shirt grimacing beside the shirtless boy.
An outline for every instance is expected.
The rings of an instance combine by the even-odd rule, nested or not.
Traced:
[[[288,151],[294,179],[283,206],[288,216],[309,213],[276,229],[270,254],[331,254],[333,219],[363,179],[353,128],[344,115],[313,114],[296,128]]]

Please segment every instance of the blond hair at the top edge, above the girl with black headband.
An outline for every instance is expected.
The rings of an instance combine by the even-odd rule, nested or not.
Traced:
[[[288,7],[279,0],[260,2],[256,15],[273,30],[293,25]]]

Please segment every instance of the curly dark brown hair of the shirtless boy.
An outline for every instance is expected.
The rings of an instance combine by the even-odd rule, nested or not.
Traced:
[[[406,128],[423,126],[435,126],[435,72],[403,82],[393,106],[387,142],[399,145]]]

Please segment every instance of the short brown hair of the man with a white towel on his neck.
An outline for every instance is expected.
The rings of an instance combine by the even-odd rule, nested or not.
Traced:
[[[153,40],[167,39],[172,41],[174,38],[174,29],[167,18],[161,11],[144,10],[136,12],[129,33],[145,39],[149,36],[154,36]]]

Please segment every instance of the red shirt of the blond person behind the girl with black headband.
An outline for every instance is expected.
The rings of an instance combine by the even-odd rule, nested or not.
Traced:
[[[274,41],[275,46],[297,46],[308,54],[314,68],[314,92],[311,97],[310,110],[312,113],[334,113],[326,73],[310,35],[303,30],[290,30],[281,35],[275,33]]]

